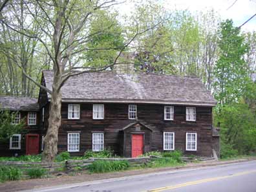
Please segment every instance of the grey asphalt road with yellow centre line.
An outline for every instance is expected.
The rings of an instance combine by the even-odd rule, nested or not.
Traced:
[[[127,176],[37,192],[256,192],[256,161]]]

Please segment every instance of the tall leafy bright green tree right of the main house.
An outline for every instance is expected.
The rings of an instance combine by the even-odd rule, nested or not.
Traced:
[[[250,80],[244,60],[248,45],[239,28],[233,27],[233,21],[226,20],[220,24],[218,46],[220,56],[214,69],[215,98],[223,105],[240,98]]]

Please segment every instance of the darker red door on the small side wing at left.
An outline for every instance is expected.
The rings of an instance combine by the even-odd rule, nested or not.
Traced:
[[[26,135],[26,155],[37,155],[39,152],[39,134]]]

